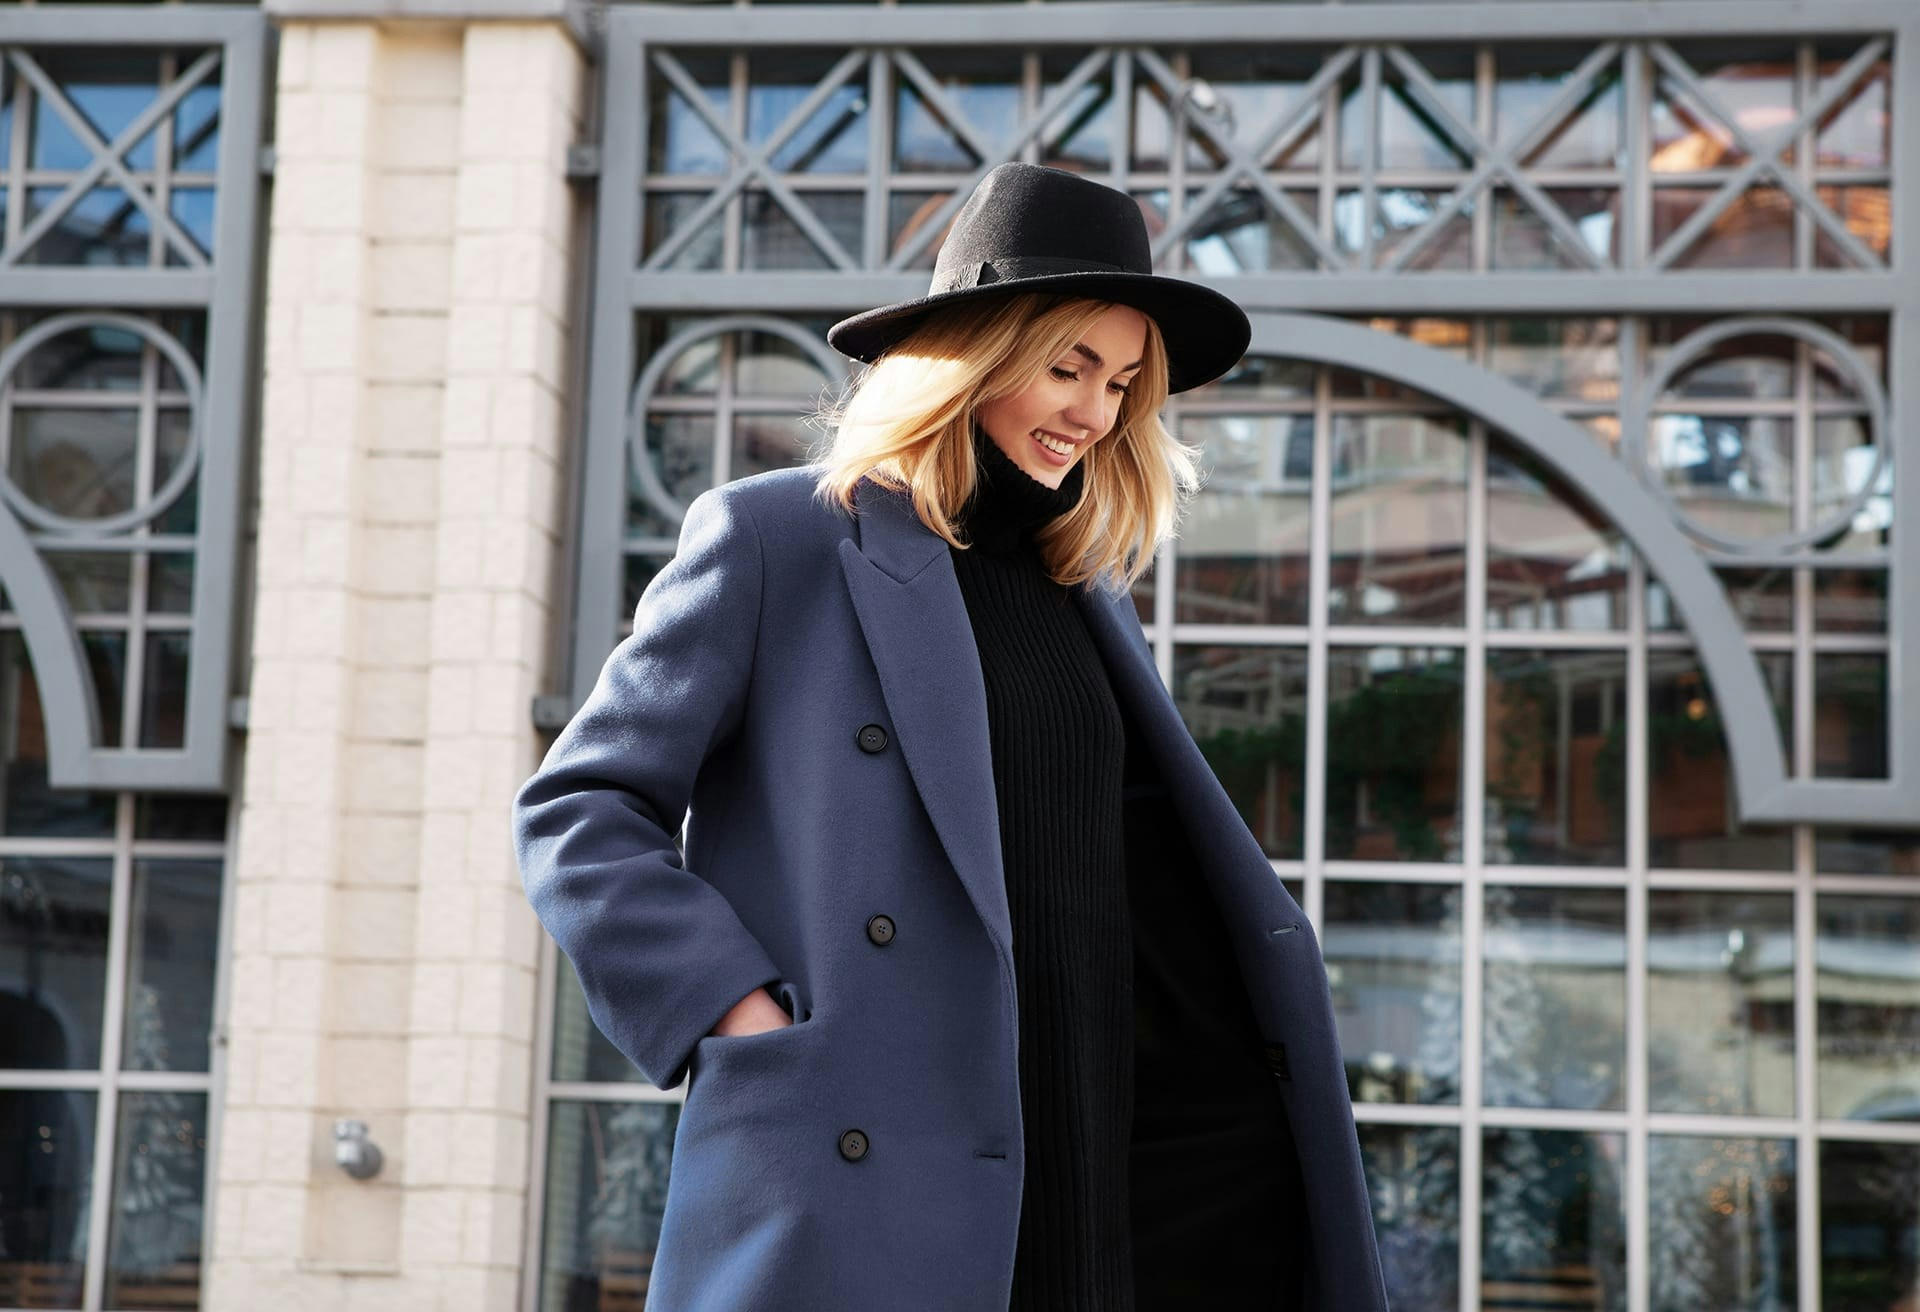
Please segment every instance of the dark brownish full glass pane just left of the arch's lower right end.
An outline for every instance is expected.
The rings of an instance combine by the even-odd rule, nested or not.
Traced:
[[[1624,864],[1624,651],[1488,651],[1484,830],[1488,864]]]

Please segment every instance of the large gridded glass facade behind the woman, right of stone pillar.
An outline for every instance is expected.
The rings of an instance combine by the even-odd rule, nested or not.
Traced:
[[[1920,830],[1741,824],[1722,718],[1772,717],[1791,778],[1887,778],[1891,311],[1605,290],[1884,271],[1893,69],[1889,42],[1837,35],[647,52],[634,255],[714,313],[753,286],[730,275],[925,271],[1010,150],[1131,190],[1162,267],[1254,313],[1240,367],[1167,407],[1206,488],[1135,599],[1321,930],[1396,1306],[1891,1312],[1914,1289]],[[781,186],[720,186],[730,140],[772,150]],[[1380,313],[1369,288],[1334,313],[1524,390],[1632,471],[1770,705],[1722,707],[1661,563],[1530,434],[1359,361],[1261,353],[1260,279],[1308,271],[1404,275],[1415,300],[1421,277],[1551,275],[1538,309]],[[803,459],[824,434],[793,415],[837,382],[778,332],[676,348],[701,313],[634,309],[653,382],[630,394],[624,588],[580,599],[609,632],[676,509]],[[672,1133],[564,964],[557,984],[549,1133],[601,1156],[591,1189],[549,1166],[541,1308],[572,1306],[595,1218],[639,1206]],[[620,1108],[649,1147],[616,1147]]]

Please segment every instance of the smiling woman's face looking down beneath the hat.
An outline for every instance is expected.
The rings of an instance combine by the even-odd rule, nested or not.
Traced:
[[[1146,315],[1114,305],[1048,361],[1025,392],[987,401],[973,417],[1010,461],[1058,488],[1087,448],[1114,426],[1144,352]]]

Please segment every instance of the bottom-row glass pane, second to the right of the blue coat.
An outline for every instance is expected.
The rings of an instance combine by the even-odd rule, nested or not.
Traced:
[[[1626,1137],[1488,1130],[1480,1306],[1626,1308]]]

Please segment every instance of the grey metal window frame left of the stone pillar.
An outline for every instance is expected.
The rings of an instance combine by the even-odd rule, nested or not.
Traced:
[[[196,411],[198,532],[190,542],[192,645],[180,747],[100,741],[79,634],[40,559],[42,549],[96,542],[119,547],[121,540],[31,532],[13,511],[0,507],[0,584],[12,599],[40,690],[48,776],[58,788],[227,791],[240,498],[255,363],[253,254],[267,33],[263,13],[228,6],[29,6],[8,15],[10,48],[134,48],[157,56],[179,46],[211,46],[219,50],[221,77],[211,261],[180,269],[0,267],[0,305],[67,309],[86,319],[108,319],[129,307],[188,309],[207,321],[205,380]]]

